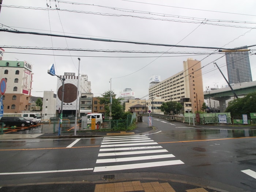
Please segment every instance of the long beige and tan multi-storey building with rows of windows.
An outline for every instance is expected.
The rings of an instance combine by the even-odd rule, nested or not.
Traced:
[[[150,86],[150,97],[161,97],[165,102],[180,102],[181,113],[200,111],[200,101],[204,101],[201,62],[188,58],[183,61],[183,71]]]

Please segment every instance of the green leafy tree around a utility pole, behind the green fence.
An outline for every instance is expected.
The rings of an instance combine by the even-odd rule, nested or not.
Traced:
[[[112,105],[111,105],[111,113],[113,120],[122,119],[123,115],[123,106],[121,105],[121,99],[116,99],[116,94],[112,91]],[[105,104],[105,112],[107,115],[110,113],[110,91],[106,91],[102,94],[102,97],[99,97],[99,103]]]

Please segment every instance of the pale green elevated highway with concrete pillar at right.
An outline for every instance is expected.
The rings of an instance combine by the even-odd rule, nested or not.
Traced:
[[[256,81],[245,82],[241,84],[231,84],[233,90],[239,98],[244,97],[249,93],[256,92]],[[219,101],[219,106],[221,112],[224,112],[226,109],[226,101],[236,99],[230,87],[227,86],[221,89],[215,89],[210,91],[204,91],[204,99],[209,101],[210,99]]]

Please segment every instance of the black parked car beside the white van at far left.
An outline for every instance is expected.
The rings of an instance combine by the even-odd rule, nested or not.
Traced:
[[[27,120],[23,117],[2,117],[0,123],[4,124],[4,127],[7,126],[16,126],[16,127],[28,127],[33,125],[33,121]]]

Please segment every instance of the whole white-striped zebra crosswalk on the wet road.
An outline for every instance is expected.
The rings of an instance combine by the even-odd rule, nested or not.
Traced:
[[[146,135],[105,137],[94,172],[184,164]]]

